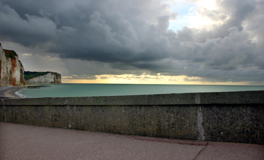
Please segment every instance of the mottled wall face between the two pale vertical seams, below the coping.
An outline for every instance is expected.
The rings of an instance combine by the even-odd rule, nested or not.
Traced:
[[[71,128],[197,140],[197,107],[73,106]]]

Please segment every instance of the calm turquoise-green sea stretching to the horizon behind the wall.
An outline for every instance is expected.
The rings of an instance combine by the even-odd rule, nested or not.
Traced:
[[[57,84],[17,91],[21,98],[91,97],[197,92],[230,92],[264,90],[256,85],[146,85],[146,84]]]

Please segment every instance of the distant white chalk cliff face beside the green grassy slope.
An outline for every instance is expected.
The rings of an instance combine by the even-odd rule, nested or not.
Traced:
[[[25,72],[25,74],[29,73],[39,73],[39,72]],[[56,72],[44,72],[43,74],[30,78],[26,80],[28,84],[60,84],[61,83],[61,74]]]

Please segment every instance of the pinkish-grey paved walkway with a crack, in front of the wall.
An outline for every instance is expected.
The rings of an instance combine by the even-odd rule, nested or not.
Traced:
[[[1,160],[264,159],[264,145],[188,141],[0,122]]]

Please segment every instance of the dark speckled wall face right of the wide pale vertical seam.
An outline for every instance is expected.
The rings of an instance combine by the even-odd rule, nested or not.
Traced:
[[[264,143],[263,104],[204,105],[202,114],[206,140]]]

